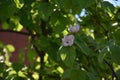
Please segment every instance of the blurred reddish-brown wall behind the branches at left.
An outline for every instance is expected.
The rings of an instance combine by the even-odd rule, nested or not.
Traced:
[[[15,47],[15,52],[12,53],[10,60],[18,61],[19,51],[28,45],[28,36],[17,33],[0,32],[0,41],[4,44],[12,44]],[[26,56],[25,59],[27,59]],[[25,60],[25,63],[27,63],[27,60]]]

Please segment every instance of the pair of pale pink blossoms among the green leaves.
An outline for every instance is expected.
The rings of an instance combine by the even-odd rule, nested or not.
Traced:
[[[72,26],[70,25],[69,27],[69,31],[72,32],[72,33],[77,33],[80,29],[80,25],[79,24],[76,24],[75,26]],[[72,46],[74,44],[74,35],[65,35],[63,38],[62,38],[62,45],[63,46]]]

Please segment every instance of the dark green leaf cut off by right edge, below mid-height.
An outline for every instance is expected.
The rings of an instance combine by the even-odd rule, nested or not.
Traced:
[[[113,45],[110,47],[112,61],[116,64],[120,64],[120,46]]]

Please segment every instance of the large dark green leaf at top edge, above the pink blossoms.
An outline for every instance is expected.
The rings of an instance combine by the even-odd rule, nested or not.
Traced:
[[[59,3],[62,3],[66,10],[71,9],[73,14],[79,14],[83,8],[87,8],[95,3],[95,0],[64,0]]]

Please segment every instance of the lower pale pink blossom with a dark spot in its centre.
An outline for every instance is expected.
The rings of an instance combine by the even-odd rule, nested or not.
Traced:
[[[74,36],[73,35],[66,35],[62,38],[62,45],[63,46],[72,46],[74,43]]]

